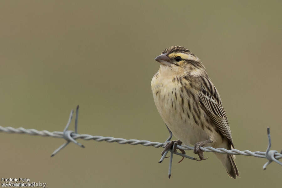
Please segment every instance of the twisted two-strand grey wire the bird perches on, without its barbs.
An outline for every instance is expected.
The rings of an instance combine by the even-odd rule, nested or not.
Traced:
[[[64,138],[64,133],[61,131],[53,131],[50,132],[48,130],[35,130],[35,129],[25,129],[23,127],[19,128],[13,128],[13,127],[2,127],[0,126],[1,132],[6,133],[18,133],[18,134],[28,134],[28,135],[39,135],[39,136],[50,136],[55,138]],[[153,146],[155,148],[159,148],[165,145],[165,142],[151,142],[149,140],[137,140],[137,139],[124,139],[124,138],[114,138],[111,136],[93,136],[93,135],[87,135],[87,134],[77,134],[77,133],[71,133],[71,136],[74,139],[83,139],[83,140],[96,140],[98,142],[101,141],[107,141],[107,142],[117,142],[119,144],[130,144],[130,145],[144,145],[144,146]],[[194,147],[188,146],[188,145],[177,145],[178,149],[182,150],[194,150]],[[263,151],[249,151],[249,150],[227,150],[225,148],[213,148],[213,147],[201,147],[201,150],[206,152],[217,152],[217,153],[227,153],[232,155],[245,155],[245,156],[254,156],[254,157],[260,157],[260,158],[266,158],[265,152]],[[282,154],[275,153],[275,159],[281,159]]]

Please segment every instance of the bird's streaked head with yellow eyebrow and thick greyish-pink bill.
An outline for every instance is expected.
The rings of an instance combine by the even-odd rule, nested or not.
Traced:
[[[168,74],[200,76],[206,74],[206,69],[200,59],[182,46],[166,48],[155,58],[160,65],[160,71]]]

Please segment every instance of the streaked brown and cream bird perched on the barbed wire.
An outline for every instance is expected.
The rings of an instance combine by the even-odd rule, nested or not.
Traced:
[[[222,100],[200,59],[185,47],[171,46],[154,60],[160,63],[151,81],[154,102],[168,129],[179,139],[168,147],[173,142],[194,145],[199,161],[206,159],[201,146],[234,149]],[[230,177],[239,177],[235,155],[215,155]]]

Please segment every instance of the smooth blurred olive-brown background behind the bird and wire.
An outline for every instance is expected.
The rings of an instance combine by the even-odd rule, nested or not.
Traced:
[[[62,131],[80,105],[81,134],[165,141],[154,105],[154,58],[182,45],[205,65],[221,94],[235,146],[281,150],[281,1],[1,1],[2,126]],[[71,130],[73,130],[71,124]],[[227,176],[214,154],[197,162],[161,148],[79,140],[54,158],[62,139],[1,135],[0,177],[47,187],[272,187],[282,168],[237,156]],[[188,155],[194,155],[192,151]]]

